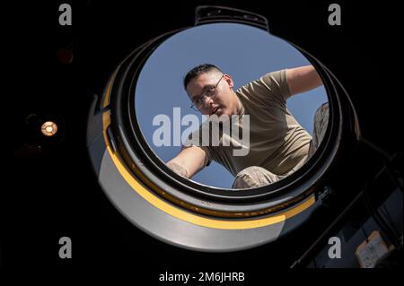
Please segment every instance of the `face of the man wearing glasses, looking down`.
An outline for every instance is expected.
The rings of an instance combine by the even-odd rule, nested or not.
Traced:
[[[209,90],[215,90],[215,95],[206,96],[209,94]],[[187,92],[189,99],[193,103],[198,99],[201,100],[202,105],[198,110],[204,115],[210,117],[215,114],[220,117],[222,115],[237,114],[238,100],[233,92],[233,80],[228,74],[221,74],[218,71],[199,74],[189,81]],[[205,95],[201,96],[202,94]]]

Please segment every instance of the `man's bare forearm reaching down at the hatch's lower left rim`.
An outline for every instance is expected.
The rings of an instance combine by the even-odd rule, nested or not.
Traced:
[[[181,150],[181,152],[172,160],[166,163],[167,167],[184,178],[192,178],[200,169],[206,165],[206,152],[196,146],[190,146]]]

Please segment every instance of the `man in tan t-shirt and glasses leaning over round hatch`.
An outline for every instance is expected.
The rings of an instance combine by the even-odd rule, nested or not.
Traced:
[[[327,129],[327,102],[316,111],[312,136],[286,108],[286,100],[291,96],[322,85],[312,65],[265,74],[233,91],[234,82],[229,74],[215,65],[204,64],[191,69],[183,83],[192,108],[209,119],[232,117],[232,127],[248,129],[249,139],[245,144],[244,132],[242,140],[227,134],[221,126],[223,120],[206,120],[189,135],[178,155],[167,162],[170,169],[185,178],[192,178],[215,160],[235,177],[232,188],[266,186],[303,166],[317,150]],[[203,131],[212,126],[221,131],[219,144],[211,144],[204,138],[212,133]],[[230,144],[224,144],[226,140]],[[241,151],[241,155],[234,155],[235,150]]]

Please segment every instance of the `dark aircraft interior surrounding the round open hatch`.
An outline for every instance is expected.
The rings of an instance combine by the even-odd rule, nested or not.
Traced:
[[[13,152],[2,190],[4,270],[118,266],[153,283],[163,273],[266,281],[275,268],[402,268],[394,9],[340,1],[341,24],[331,26],[325,2],[88,0],[68,2],[72,23],[62,26],[60,4],[10,8],[21,21],[6,47]],[[225,193],[181,178],[136,122],[145,59],[175,33],[217,22],[284,39],[327,90],[319,150],[269,186]],[[71,259],[60,256],[64,237]]]

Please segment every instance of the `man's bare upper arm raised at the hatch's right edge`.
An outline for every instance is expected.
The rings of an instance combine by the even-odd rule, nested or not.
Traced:
[[[291,96],[297,93],[310,91],[322,85],[321,77],[314,66],[305,65],[286,70],[286,81]]]

